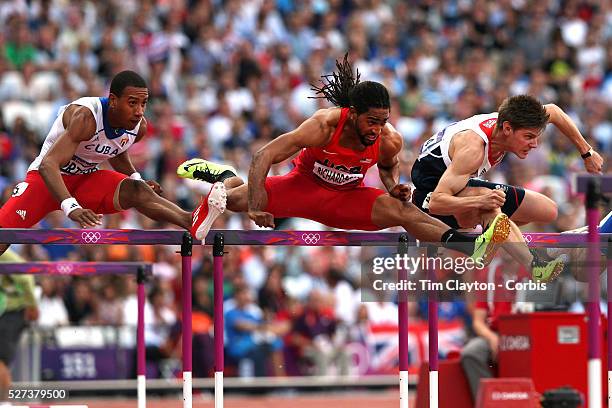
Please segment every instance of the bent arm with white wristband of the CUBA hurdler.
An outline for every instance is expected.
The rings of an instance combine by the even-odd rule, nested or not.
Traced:
[[[96,121],[91,111],[78,105],[69,106],[63,116],[66,129],[51,146],[42,159],[38,169],[47,188],[53,197],[60,203],[71,198],[60,169],[72,159],[79,143],[89,140],[96,132]],[[76,200],[74,200],[76,202]],[[89,209],[80,208],[69,213],[70,219],[82,227],[94,227],[101,223],[101,217]]]

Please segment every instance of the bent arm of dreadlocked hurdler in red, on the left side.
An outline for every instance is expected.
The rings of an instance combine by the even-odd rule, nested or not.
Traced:
[[[297,129],[272,140],[253,156],[249,168],[248,206],[249,217],[261,227],[274,227],[274,217],[266,213],[268,197],[265,180],[272,164],[288,159],[305,147],[324,146],[331,136],[329,109],[317,111]]]

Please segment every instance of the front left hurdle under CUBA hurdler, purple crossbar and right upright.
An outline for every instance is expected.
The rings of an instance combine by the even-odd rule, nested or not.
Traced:
[[[0,229],[0,243],[39,245],[180,245],[183,279],[183,407],[191,408],[193,395],[191,363],[191,339],[193,336],[191,322],[191,253],[193,239],[188,232],[181,230],[6,228]],[[187,340],[185,341],[185,339]]]

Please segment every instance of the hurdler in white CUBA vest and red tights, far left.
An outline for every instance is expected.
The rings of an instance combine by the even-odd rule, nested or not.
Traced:
[[[108,97],[84,97],[60,108],[25,180],[0,209],[0,227],[29,228],[62,209],[90,228],[101,224],[102,214],[135,208],[153,220],[192,229],[192,214],[161,197],[159,185],[144,182],[130,160],[128,149],[146,134],[148,98],[144,79],[122,71],[112,79]],[[101,169],[102,163],[113,170]],[[223,207],[224,197],[213,198]],[[208,201],[202,204],[200,222],[208,214]],[[0,253],[5,249],[0,245]]]

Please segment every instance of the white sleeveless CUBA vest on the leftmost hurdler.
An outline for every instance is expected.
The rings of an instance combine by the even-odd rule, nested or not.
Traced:
[[[80,98],[60,108],[57,118],[51,126],[51,130],[45,138],[40,154],[34,159],[28,171],[38,170],[43,157],[45,157],[62,132],[65,131],[62,117],[66,108],[70,105],[81,105],[91,110],[96,120],[96,132],[91,135],[89,140],[79,144],[70,161],[60,169],[63,174],[93,173],[99,169],[100,163],[123,153],[136,140],[140,123],[130,130],[113,128],[108,124],[108,98]]]

